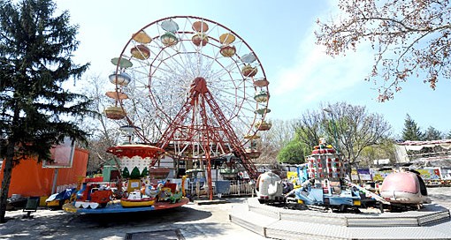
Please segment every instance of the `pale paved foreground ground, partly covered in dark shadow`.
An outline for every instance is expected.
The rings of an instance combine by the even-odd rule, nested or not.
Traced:
[[[432,203],[451,209],[451,187],[430,188]],[[22,219],[21,211],[7,212],[10,221],[0,224],[0,239],[124,239],[127,233],[179,230],[185,239],[264,239],[228,220],[234,205],[245,199],[228,199],[219,205],[189,203],[176,209],[142,214],[111,214],[96,217],[40,209],[33,219]],[[167,232],[161,232],[161,235]],[[173,231],[172,231],[173,234]],[[149,236],[127,239],[149,239]],[[141,235],[142,236],[142,235]],[[166,238],[173,239],[166,235]]]

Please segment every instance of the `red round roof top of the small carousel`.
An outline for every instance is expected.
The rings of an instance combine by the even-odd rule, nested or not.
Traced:
[[[112,146],[106,150],[107,153],[114,154],[121,157],[132,158],[140,156],[141,158],[156,158],[164,154],[164,150],[157,146],[143,145],[143,144],[126,144],[120,146]]]

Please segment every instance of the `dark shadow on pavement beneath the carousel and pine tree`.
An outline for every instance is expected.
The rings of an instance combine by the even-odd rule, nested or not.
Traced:
[[[186,222],[199,221],[210,216],[210,212],[184,206],[150,211],[146,214],[63,213],[36,215],[33,219],[16,216],[0,224],[0,239],[124,239],[130,231],[180,228]],[[176,225],[179,227],[175,227]],[[194,228],[187,225],[186,227]]]

